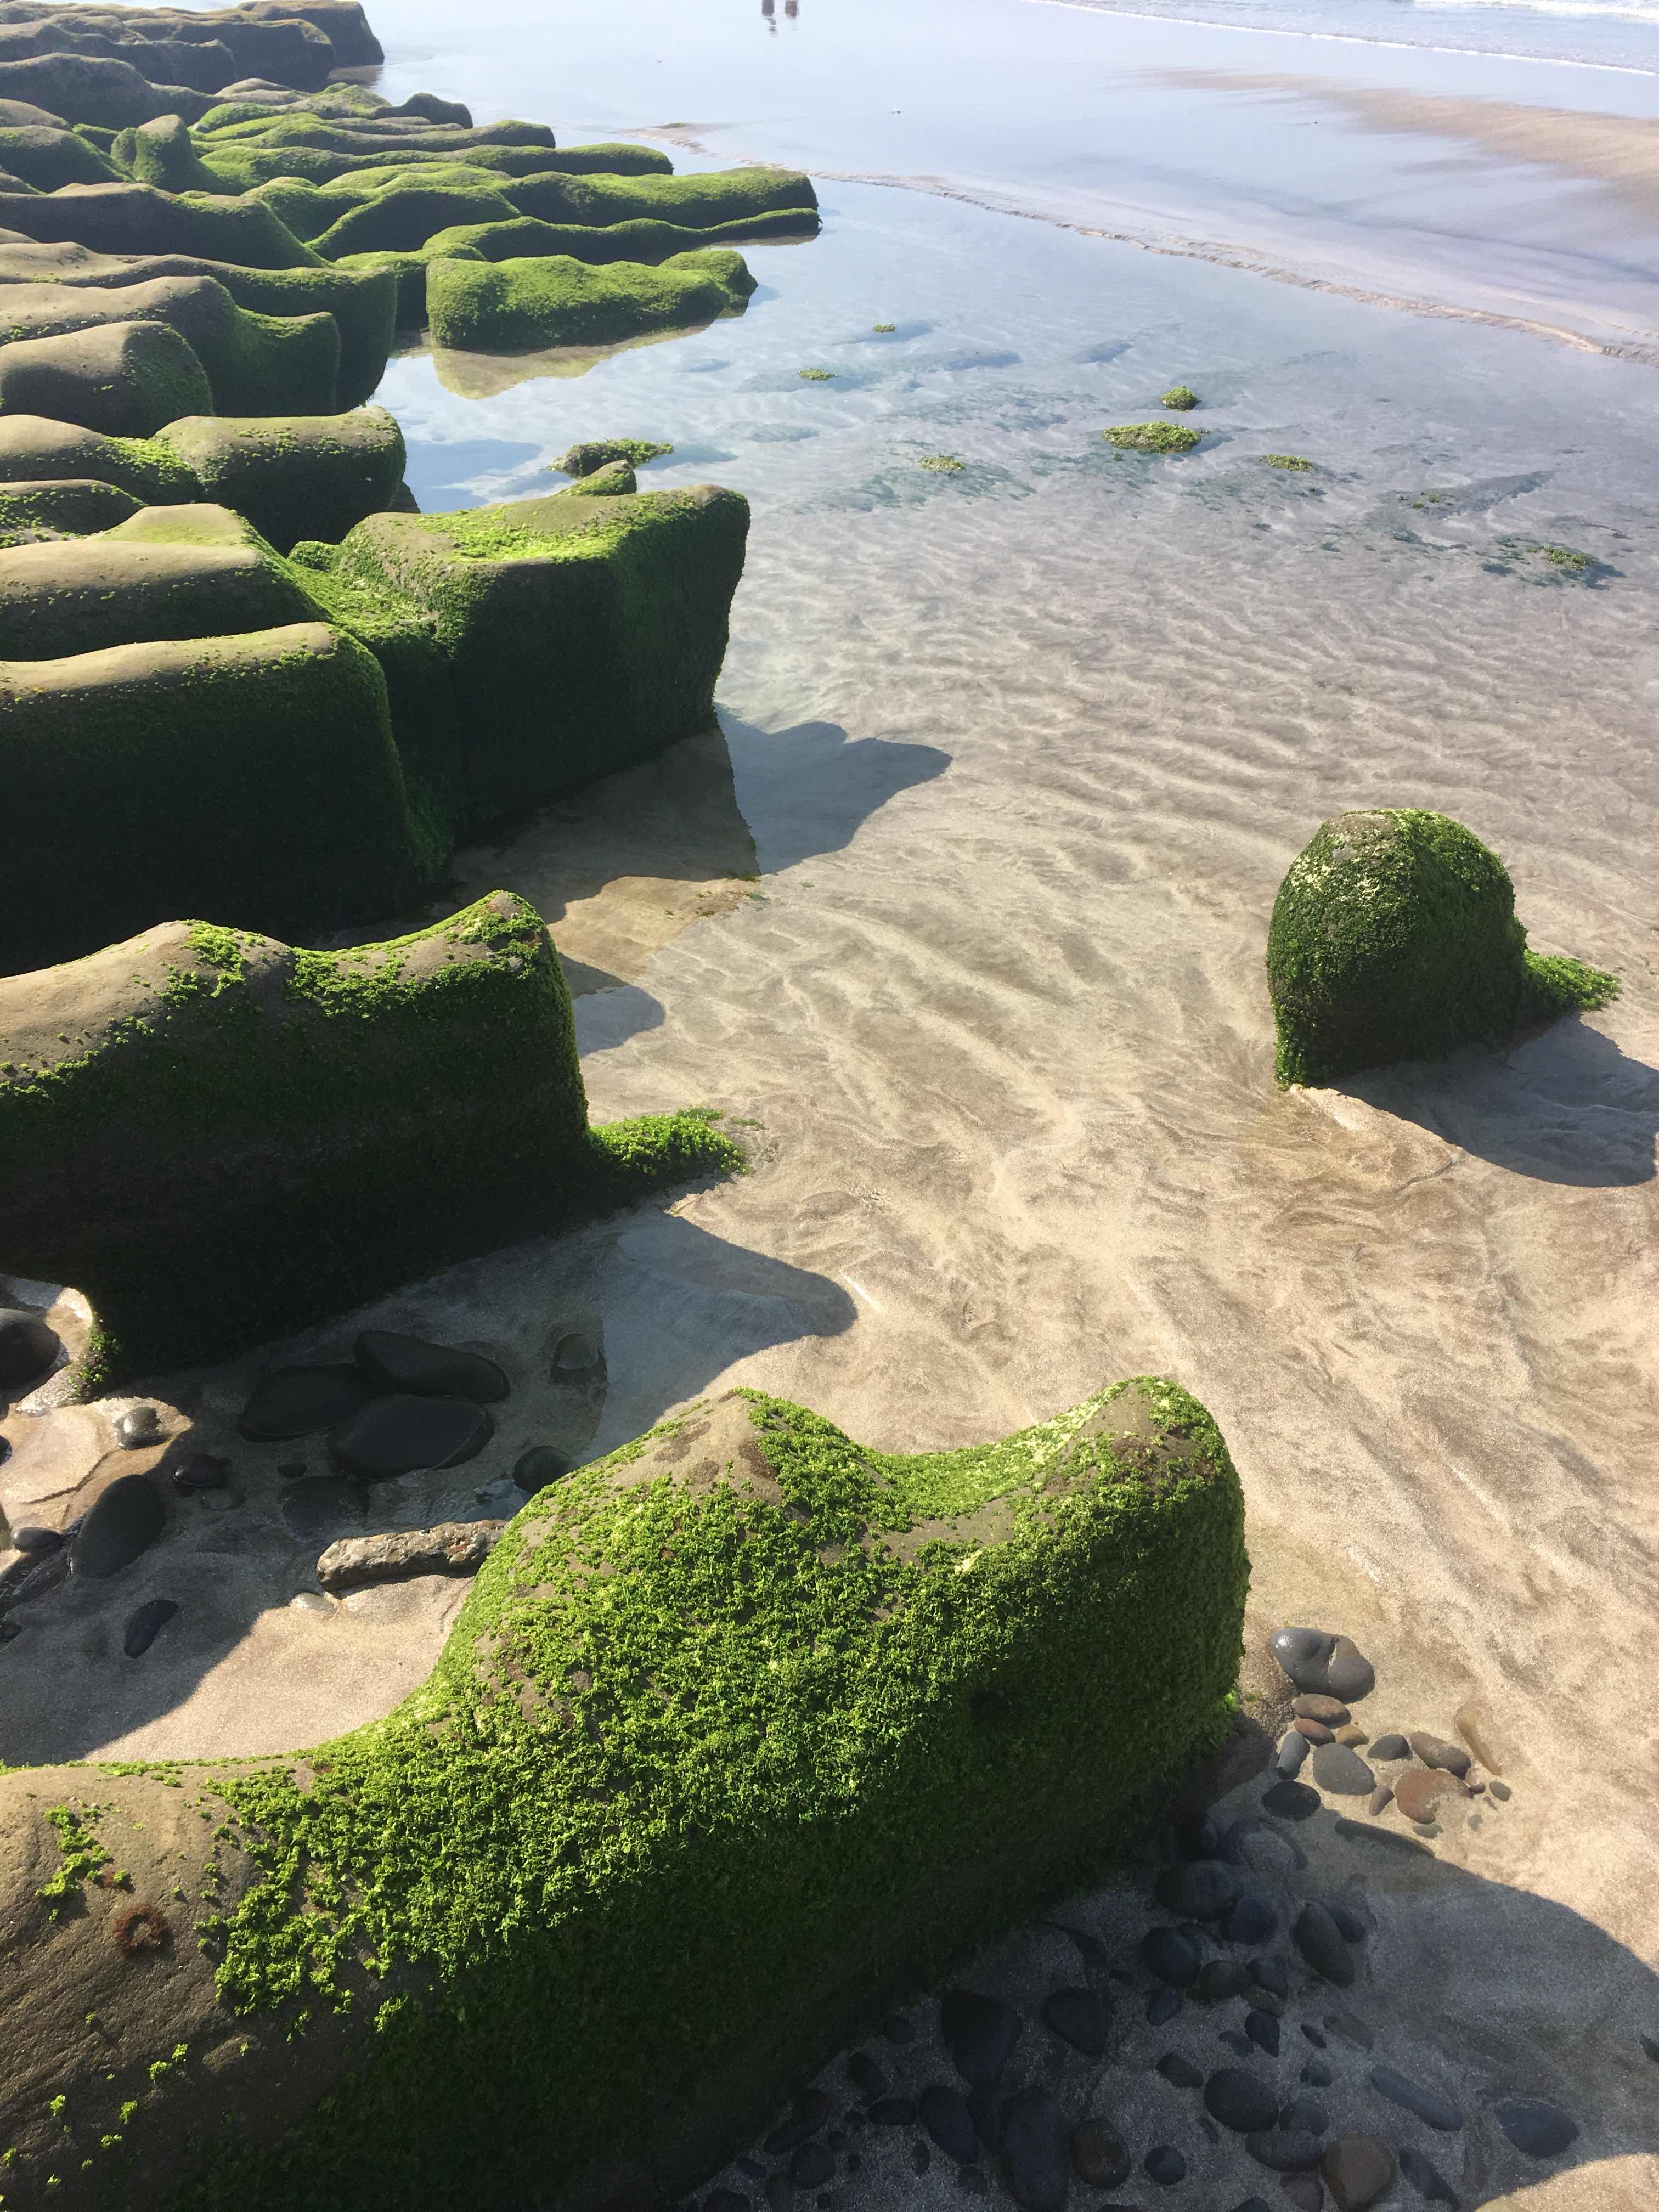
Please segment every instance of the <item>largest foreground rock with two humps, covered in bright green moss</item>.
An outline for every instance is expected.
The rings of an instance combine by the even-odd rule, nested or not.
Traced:
[[[111,1942],[71,1951],[86,1922],[13,1907],[15,2179],[55,2157],[73,2190],[86,2154],[168,2212],[465,2205],[482,2170],[549,2212],[670,2203],[1168,1801],[1225,1730],[1245,1579],[1225,1442],[1172,1383],[902,1455],[701,1402],[524,1506],[387,1721],[197,1767],[184,1803],[0,1776],[97,1933],[119,1900],[75,1869],[119,1851],[166,1896],[217,1838],[166,2011]]]

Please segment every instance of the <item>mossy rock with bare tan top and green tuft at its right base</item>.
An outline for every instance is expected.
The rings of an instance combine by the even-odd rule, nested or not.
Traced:
[[[292,785],[323,841],[330,774]],[[564,971],[507,891],[347,951],[161,922],[0,980],[0,1248],[91,1301],[88,1389],[737,1159],[699,1115],[588,1130]]]

